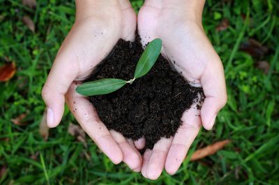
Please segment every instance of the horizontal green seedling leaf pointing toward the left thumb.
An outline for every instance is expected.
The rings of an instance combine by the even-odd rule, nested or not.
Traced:
[[[84,96],[105,95],[119,90],[125,84],[126,81],[122,79],[99,79],[82,83],[77,87],[76,91]]]

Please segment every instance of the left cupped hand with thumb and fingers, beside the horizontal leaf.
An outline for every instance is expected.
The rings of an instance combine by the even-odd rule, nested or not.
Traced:
[[[135,12],[128,0],[77,0],[76,5],[75,24],[58,51],[42,91],[47,125],[59,124],[66,97],[70,111],[100,150],[113,163],[124,161],[131,169],[140,171],[142,156],[133,141],[108,131],[89,100],[75,92],[77,81],[85,79],[120,38],[134,40]]]

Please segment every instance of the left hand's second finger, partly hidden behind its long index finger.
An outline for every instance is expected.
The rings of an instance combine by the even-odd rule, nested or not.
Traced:
[[[140,155],[140,152],[134,150],[135,147],[133,148],[130,143],[128,143],[126,138],[124,138],[119,132],[111,130],[110,133],[121,148],[123,162],[126,163],[133,171],[140,172],[142,169],[142,156]]]

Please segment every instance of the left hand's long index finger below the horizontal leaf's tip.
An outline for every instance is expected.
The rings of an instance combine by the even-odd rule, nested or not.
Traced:
[[[102,150],[113,163],[121,163],[123,155],[119,145],[114,138],[112,138],[105,124],[98,118],[96,110],[93,108],[91,102],[85,97],[77,94],[75,88],[77,88],[77,85],[73,83],[66,94],[66,104],[70,108],[70,111],[75,116],[77,122],[80,123],[82,129],[86,131],[100,150]]]

